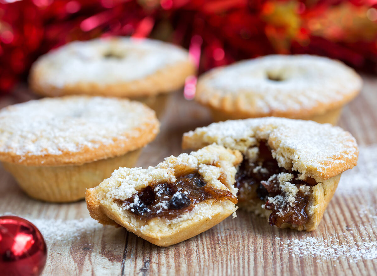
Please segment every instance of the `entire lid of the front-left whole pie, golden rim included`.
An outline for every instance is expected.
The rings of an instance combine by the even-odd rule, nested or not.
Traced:
[[[159,132],[155,112],[126,99],[44,98],[0,110],[0,160],[80,164],[123,155]]]

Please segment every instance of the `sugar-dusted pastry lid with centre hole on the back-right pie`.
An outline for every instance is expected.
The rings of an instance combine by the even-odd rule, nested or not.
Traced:
[[[215,68],[198,81],[196,100],[245,117],[303,118],[356,97],[360,76],[314,55],[268,55]]]

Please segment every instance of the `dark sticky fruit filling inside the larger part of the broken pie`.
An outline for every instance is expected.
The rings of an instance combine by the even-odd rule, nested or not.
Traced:
[[[261,199],[262,208],[271,210],[270,225],[280,227],[283,223],[304,225],[308,222],[308,201],[312,178],[297,179],[298,173],[278,166],[265,143],[259,146],[259,156],[250,162],[247,158],[239,166],[235,186],[239,189],[238,201]]]

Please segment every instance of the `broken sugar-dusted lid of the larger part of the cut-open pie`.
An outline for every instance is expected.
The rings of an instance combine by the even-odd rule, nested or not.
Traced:
[[[340,127],[287,118],[229,120],[184,133],[182,147],[198,149],[217,143],[244,155],[267,141],[280,167],[299,172],[301,179],[329,179],[357,164],[355,138]]]

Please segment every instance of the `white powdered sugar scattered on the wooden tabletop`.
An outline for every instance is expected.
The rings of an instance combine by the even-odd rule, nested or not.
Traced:
[[[343,173],[334,197],[352,199],[357,195],[375,193],[377,182],[370,180],[376,179],[375,176],[377,176],[374,170],[375,164],[377,164],[376,161],[377,145],[360,147],[359,165]],[[349,181],[348,179],[350,178],[354,180],[358,179],[358,182]],[[357,202],[357,200],[355,202]],[[290,235],[293,236],[292,238],[288,238],[284,235],[285,230],[279,230],[285,238],[276,237],[275,244],[282,254],[292,256],[293,260],[307,258],[315,262],[345,260],[346,262],[353,263],[377,259],[377,238],[373,234],[375,230],[377,230],[376,205],[371,202],[365,202],[365,204],[357,204],[355,207],[356,208],[352,207],[349,209],[349,212],[352,212],[352,216],[347,217],[364,221],[362,225],[351,219],[351,224],[348,224],[347,228],[340,228],[340,232],[333,233],[332,228],[328,228],[328,232],[330,231],[331,235],[326,234],[325,237],[322,236],[322,230],[320,229],[309,233],[287,230]],[[331,208],[331,204],[329,208]],[[328,210],[326,212],[332,211]],[[12,214],[6,213],[4,215]],[[237,219],[242,219],[243,216],[244,215],[241,213],[241,218]],[[250,216],[250,214],[247,213],[246,216]],[[325,214],[325,216],[327,215]],[[91,242],[94,246],[100,246],[97,244],[98,241],[90,235],[101,231],[103,225],[98,224],[98,222],[92,218],[68,220],[36,219],[29,218],[28,216],[25,216],[25,218],[40,229],[48,246],[55,243],[70,245],[71,242],[78,241],[83,237],[89,237],[87,241]],[[254,220],[256,220],[256,218],[253,218],[253,223],[255,223]],[[352,224],[352,222],[354,222],[354,224]],[[270,227],[265,221],[261,221],[261,223],[265,224],[266,229]],[[322,224],[323,223],[326,223],[326,221],[322,221]],[[224,227],[222,227],[222,225]],[[230,228],[230,230],[227,229],[228,226],[226,225],[227,224],[223,222],[223,224],[211,230],[219,231],[218,236],[221,238],[221,242],[227,241],[227,238],[233,237],[237,235],[237,233],[240,235],[239,232],[242,234],[241,237],[245,237],[246,235],[251,236],[255,239],[256,243],[261,242],[262,237],[265,237],[265,234],[262,235],[259,228],[255,231],[253,227],[242,227],[237,229],[239,232],[235,232],[233,228]],[[262,227],[262,225],[260,226]],[[115,231],[115,228],[109,227],[108,230]],[[111,235],[111,237],[113,238],[113,235]],[[107,242],[109,241],[107,240]],[[239,242],[240,248],[245,248],[243,242],[244,239]],[[270,239],[267,239],[267,242],[270,244]],[[282,265],[284,264],[285,263]]]

